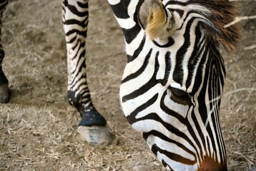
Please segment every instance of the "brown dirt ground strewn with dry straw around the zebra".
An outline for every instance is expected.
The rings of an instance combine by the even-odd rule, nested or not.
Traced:
[[[239,1],[240,16],[256,1]],[[92,100],[107,118],[112,145],[88,145],[79,114],[66,100],[67,59],[60,0],[12,0],[4,13],[4,71],[11,100],[0,104],[0,170],[134,170],[164,168],[119,105],[124,40],[107,1],[89,1],[87,66]],[[256,19],[240,21],[242,41],[225,53],[221,105],[230,170],[256,167]]]

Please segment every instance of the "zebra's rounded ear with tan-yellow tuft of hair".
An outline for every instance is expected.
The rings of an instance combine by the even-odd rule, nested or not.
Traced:
[[[160,0],[144,0],[139,7],[139,21],[150,39],[163,39],[172,34],[174,19]]]

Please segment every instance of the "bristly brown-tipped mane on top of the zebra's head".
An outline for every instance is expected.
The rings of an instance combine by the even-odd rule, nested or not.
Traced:
[[[225,50],[234,49],[240,39],[240,29],[237,24],[225,26],[235,20],[237,3],[228,0],[192,0],[192,2],[204,6],[210,12],[205,14],[207,22],[204,24],[207,36],[210,36],[209,41]]]

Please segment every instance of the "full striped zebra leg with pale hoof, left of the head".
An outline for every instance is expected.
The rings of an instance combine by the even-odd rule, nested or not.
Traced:
[[[112,142],[107,121],[92,104],[87,86],[85,46],[88,24],[87,0],[62,0],[62,21],[67,41],[67,100],[79,111],[78,131],[92,145]]]

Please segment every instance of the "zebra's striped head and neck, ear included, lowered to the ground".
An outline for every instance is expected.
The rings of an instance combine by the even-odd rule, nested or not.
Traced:
[[[126,41],[120,98],[129,123],[167,170],[227,170],[219,48],[229,33],[217,28],[224,24],[216,24],[222,20],[215,23],[212,13],[226,13],[231,5],[224,0],[109,4]],[[234,40],[227,36],[225,46]]]

